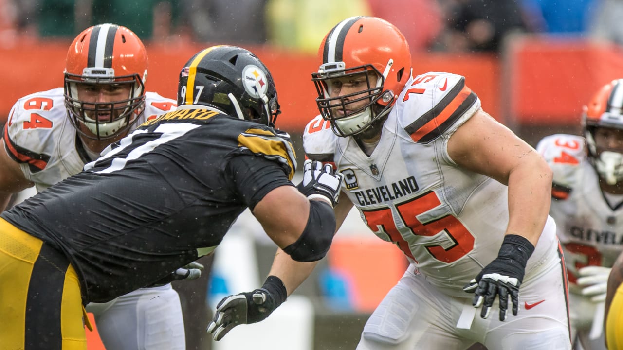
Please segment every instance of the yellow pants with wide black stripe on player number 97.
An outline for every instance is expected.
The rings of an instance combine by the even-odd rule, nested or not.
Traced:
[[[0,350],[87,348],[74,268],[1,218],[0,281]]]

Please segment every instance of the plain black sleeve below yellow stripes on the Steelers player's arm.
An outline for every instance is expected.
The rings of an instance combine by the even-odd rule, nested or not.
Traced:
[[[294,186],[278,163],[259,156],[242,154],[231,158],[226,173],[250,210],[273,189]]]

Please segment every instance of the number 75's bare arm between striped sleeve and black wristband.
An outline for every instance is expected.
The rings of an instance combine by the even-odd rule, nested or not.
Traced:
[[[552,181],[551,169],[536,150],[479,110],[450,137],[448,154],[461,168],[508,186],[506,234],[536,245],[549,213]]]

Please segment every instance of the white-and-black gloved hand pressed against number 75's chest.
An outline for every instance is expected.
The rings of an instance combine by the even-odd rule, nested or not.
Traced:
[[[305,161],[303,164],[303,181],[297,189],[308,199],[321,197],[335,207],[340,198],[340,189],[344,175],[335,174],[331,164],[322,165],[319,161]]]

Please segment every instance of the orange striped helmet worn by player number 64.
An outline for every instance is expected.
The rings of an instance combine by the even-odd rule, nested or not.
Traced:
[[[78,132],[104,140],[130,129],[145,107],[147,66],[143,42],[126,27],[98,24],[80,33],[65,61],[65,106]],[[130,93],[113,102],[85,102],[78,88],[88,85],[128,85]]]

